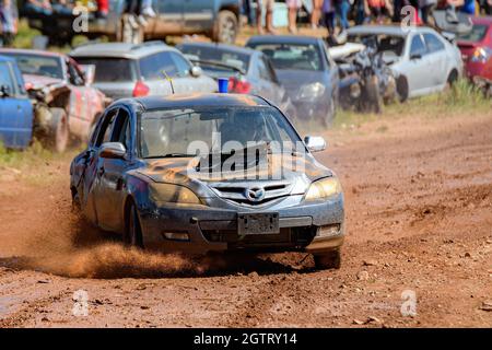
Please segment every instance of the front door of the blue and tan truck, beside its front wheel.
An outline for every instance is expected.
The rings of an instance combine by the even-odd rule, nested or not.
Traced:
[[[184,3],[185,33],[200,33],[213,27],[213,0],[180,0]]]

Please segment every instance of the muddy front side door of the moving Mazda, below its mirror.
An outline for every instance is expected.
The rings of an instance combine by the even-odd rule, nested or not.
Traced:
[[[97,223],[101,228],[109,231],[119,231],[122,223],[122,189],[124,174],[131,160],[131,119],[130,113],[125,108],[119,108],[112,122],[109,140],[105,142],[120,142],[127,150],[125,159],[104,159],[97,161],[97,182],[95,188],[95,208],[97,212]],[[104,144],[104,143],[103,143]]]

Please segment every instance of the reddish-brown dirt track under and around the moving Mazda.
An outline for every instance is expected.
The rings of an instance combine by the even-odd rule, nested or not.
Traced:
[[[70,215],[68,164],[43,186],[0,170],[0,326],[492,327],[492,114],[328,135],[342,180],[342,268],[302,254],[248,262],[126,252]],[[125,277],[125,278],[121,278]],[[129,278],[130,277],[130,278]],[[85,290],[89,316],[72,314]],[[414,317],[400,313],[417,293]]]

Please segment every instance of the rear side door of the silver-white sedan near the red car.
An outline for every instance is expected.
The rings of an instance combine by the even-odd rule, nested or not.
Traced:
[[[448,58],[446,46],[433,33],[424,33],[423,38],[427,48],[427,59],[430,66],[430,73],[433,75],[432,88],[441,89],[447,82]]]

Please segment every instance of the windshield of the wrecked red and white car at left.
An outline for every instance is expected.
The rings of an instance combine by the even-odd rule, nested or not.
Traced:
[[[15,58],[23,74],[63,79],[63,69],[58,57],[21,52],[2,52],[2,55]]]

